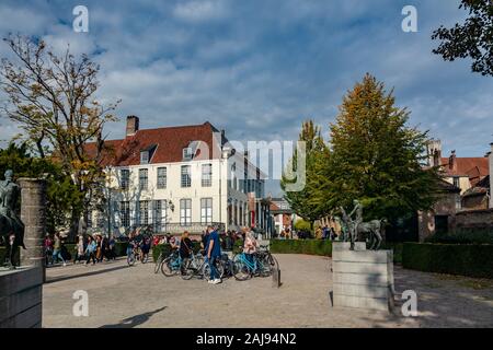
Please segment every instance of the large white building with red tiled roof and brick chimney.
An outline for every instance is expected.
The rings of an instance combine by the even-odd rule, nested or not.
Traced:
[[[196,234],[216,224],[267,230],[268,206],[260,200],[264,174],[208,121],[140,130],[139,118],[129,116],[126,138],[106,147],[110,205],[91,214],[93,229],[123,233],[152,225],[158,233]]]

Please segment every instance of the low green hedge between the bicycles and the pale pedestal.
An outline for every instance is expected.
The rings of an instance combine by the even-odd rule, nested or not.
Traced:
[[[273,254],[308,254],[332,256],[332,242],[328,240],[271,240]]]

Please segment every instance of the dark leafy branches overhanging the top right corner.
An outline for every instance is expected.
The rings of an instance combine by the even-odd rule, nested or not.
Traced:
[[[461,0],[459,9],[469,11],[469,18],[463,24],[436,30],[432,39],[442,43],[433,52],[447,61],[470,57],[473,72],[493,75],[493,1]]]

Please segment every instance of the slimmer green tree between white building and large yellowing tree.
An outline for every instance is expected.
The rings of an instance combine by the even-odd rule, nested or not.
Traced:
[[[310,179],[316,175],[318,168],[318,163],[320,163],[324,158],[328,156],[329,150],[325,142],[323,141],[321,129],[316,126],[312,120],[307,120],[301,126],[301,132],[299,135],[299,141],[306,142],[306,185],[303,189],[299,191],[287,191],[286,185],[295,183],[295,179],[287,178],[285,175],[280,182],[280,187],[285,191],[285,199],[288,201],[291,209],[301,218],[313,224],[314,220],[318,220],[324,215],[322,207],[313,201],[313,190],[319,190],[318,188],[310,186]],[[288,167],[291,167],[297,176],[303,170],[297,168],[298,156],[303,156],[299,154],[298,150],[295,151],[293,159],[288,162]]]

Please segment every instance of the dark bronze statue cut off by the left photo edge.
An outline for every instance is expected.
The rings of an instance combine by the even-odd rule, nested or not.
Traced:
[[[21,197],[21,188],[13,182],[13,172],[5,172],[5,179],[0,182],[0,237],[9,247],[7,265],[15,268],[13,257],[24,245],[24,224],[16,214],[18,202]]]

